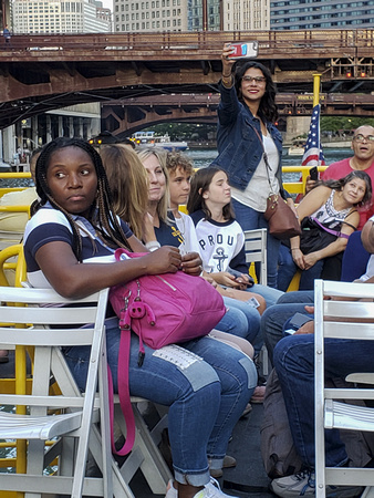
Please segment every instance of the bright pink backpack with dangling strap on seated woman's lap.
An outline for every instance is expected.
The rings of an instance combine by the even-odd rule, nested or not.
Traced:
[[[117,249],[117,261],[122,255],[129,258],[145,256]],[[167,344],[207,335],[221,320],[226,308],[221,295],[210,283],[183,271],[147,274],[114,286],[110,291],[110,301],[120,318],[118,395],[127,425],[125,446],[115,450],[112,442],[112,449],[118,455],[126,455],[131,452],[135,438],[128,390],[131,330],[139,336],[138,364],[142,366],[144,343],[157,350]]]

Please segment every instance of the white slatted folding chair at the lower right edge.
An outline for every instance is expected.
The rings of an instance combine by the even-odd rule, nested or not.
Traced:
[[[324,300],[325,297],[340,300]],[[357,300],[364,298],[372,302]],[[374,388],[326,388],[324,382],[325,338],[374,340],[373,298],[374,284],[314,281],[316,498],[325,497],[328,484],[374,486],[372,468],[325,467],[324,443],[325,428],[374,432],[374,408],[349,403],[349,400],[374,400]],[[363,318],[371,323],[363,323]],[[374,374],[354,373],[346,381],[374,384]],[[365,492],[365,496],[372,496],[367,494],[368,489]]]

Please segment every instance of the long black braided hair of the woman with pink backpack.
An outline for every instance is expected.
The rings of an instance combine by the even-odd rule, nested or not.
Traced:
[[[54,200],[46,181],[46,172],[52,154],[65,147],[79,147],[83,149],[89,154],[95,167],[97,176],[96,205],[92,205],[87,220],[95,228],[98,237],[104,243],[112,248],[125,247],[131,250],[127,238],[112,208],[111,189],[102,159],[94,147],[81,138],[60,137],[43,147],[38,158],[35,170],[35,184],[39,199],[32,204],[31,215],[34,215],[48,201],[50,201],[55,209],[63,212],[73,231],[73,252],[76,256],[76,259],[82,262],[82,236],[80,227],[73,216]]]

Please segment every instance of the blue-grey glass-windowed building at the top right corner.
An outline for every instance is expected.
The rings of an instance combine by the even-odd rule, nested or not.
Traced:
[[[274,0],[270,3],[271,30],[372,29],[374,0]]]

